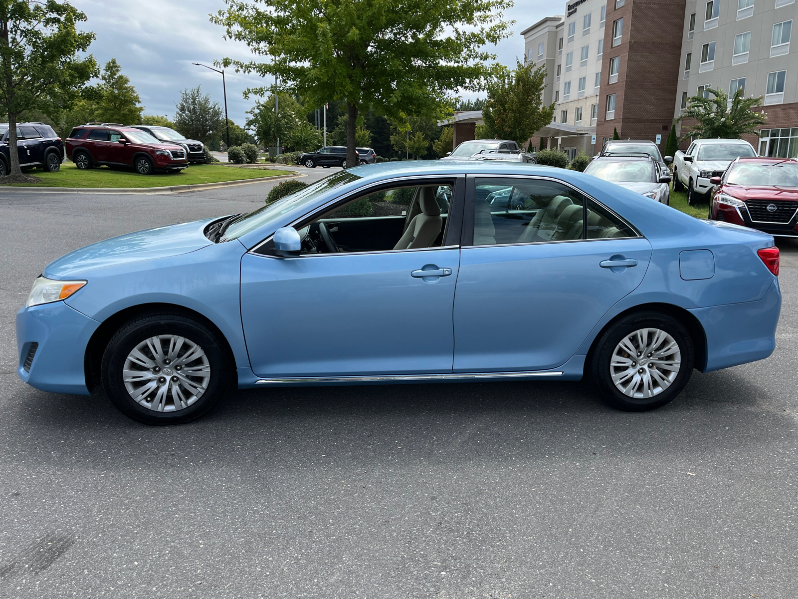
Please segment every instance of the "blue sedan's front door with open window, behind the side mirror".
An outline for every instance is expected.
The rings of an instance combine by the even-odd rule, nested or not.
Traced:
[[[300,228],[299,257],[243,256],[241,315],[255,375],[452,372],[460,249],[441,245],[441,187],[452,189],[424,192],[423,209],[414,187],[314,216]],[[415,247],[408,230],[418,231]]]

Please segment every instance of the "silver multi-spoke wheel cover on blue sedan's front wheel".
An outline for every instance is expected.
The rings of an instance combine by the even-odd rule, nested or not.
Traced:
[[[124,360],[122,381],[130,398],[156,412],[184,410],[211,382],[202,347],[180,335],[157,335],[136,345]]]

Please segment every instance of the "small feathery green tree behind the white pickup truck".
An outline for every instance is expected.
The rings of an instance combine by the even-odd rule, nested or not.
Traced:
[[[754,106],[762,103],[762,97],[745,97],[743,89],[737,89],[729,102],[729,94],[722,89],[706,89],[707,96],[688,99],[687,109],[677,121],[693,118],[696,124],[684,133],[681,139],[705,137],[713,139],[740,139],[745,134],[758,135],[757,125],[767,122],[764,110],[757,113]]]

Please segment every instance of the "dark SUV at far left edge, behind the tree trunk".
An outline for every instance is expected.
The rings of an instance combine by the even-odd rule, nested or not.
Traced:
[[[8,123],[0,124],[0,177],[6,177],[11,165],[8,134]],[[22,169],[39,167],[55,173],[64,160],[64,142],[49,125],[20,123],[17,125],[17,152]]]

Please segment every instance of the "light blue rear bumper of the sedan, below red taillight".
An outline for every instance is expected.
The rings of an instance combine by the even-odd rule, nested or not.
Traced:
[[[776,348],[776,325],[781,310],[779,281],[757,302],[727,303],[690,310],[706,335],[706,366],[717,371],[765,359]]]

